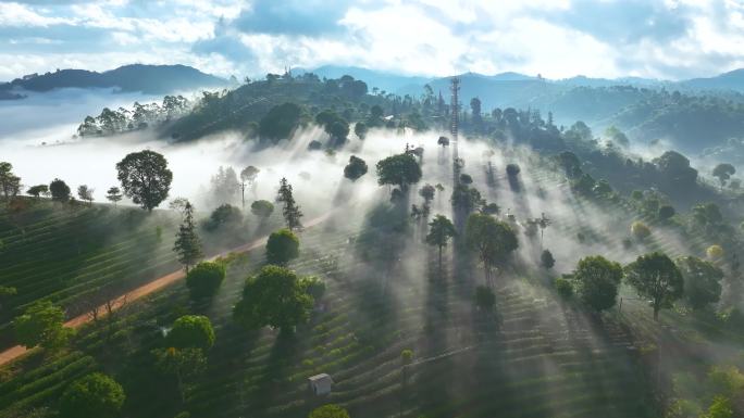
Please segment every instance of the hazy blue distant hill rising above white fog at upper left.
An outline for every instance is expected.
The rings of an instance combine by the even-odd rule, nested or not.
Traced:
[[[215,88],[227,80],[204,74],[186,65],[121,66],[103,73],[86,69],[58,69],[54,73],[28,75],[0,85],[0,99],[14,99],[23,91],[49,91],[59,88],[111,88],[122,91],[141,91],[148,94],[166,94],[177,90]]]

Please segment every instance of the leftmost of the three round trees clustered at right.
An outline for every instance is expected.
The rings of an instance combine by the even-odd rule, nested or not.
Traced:
[[[573,273],[576,280],[576,294],[594,311],[605,311],[615,306],[618,286],[622,280],[622,266],[602,255],[584,257],[579,261]]]

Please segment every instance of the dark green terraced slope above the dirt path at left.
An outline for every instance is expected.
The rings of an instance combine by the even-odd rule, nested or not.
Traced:
[[[101,288],[124,292],[177,268],[170,214],[65,206],[41,201],[21,215],[0,213],[0,286],[17,290],[0,316],[3,346],[10,320],[34,301],[49,299],[74,316]]]

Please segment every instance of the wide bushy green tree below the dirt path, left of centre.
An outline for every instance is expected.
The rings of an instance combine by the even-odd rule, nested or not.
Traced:
[[[246,280],[233,316],[247,328],[270,326],[289,331],[308,320],[312,304],[295,271],[269,265]]]

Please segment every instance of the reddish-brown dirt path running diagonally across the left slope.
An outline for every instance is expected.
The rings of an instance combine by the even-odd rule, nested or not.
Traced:
[[[310,228],[310,227],[313,227],[318,224],[321,224],[324,220],[326,220],[330,216],[331,216],[331,213],[327,213],[325,215],[310,219],[310,221],[305,224],[305,228]],[[213,255],[208,261],[214,261],[215,258],[221,257],[221,256],[226,256],[230,253],[247,253],[251,250],[256,250],[260,246],[263,246],[268,239],[269,239],[269,236],[261,237],[257,240],[248,242],[247,244],[243,244],[243,245],[236,246],[232,250],[223,251],[216,255]],[[185,277],[186,277],[186,274],[184,273],[183,269],[170,273],[165,276],[161,276],[161,277],[159,277],[159,278],[157,278],[157,279],[154,279],[154,280],[152,280],[146,284],[140,286],[139,288],[136,288],[136,289],[116,297],[113,302],[113,311],[119,309],[124,304],[132,303],[138,299],[145,297],[148,294],[154,293],[154,292],[157,292],[157,291],[159,291],[159,290],[161,290],[168,286],[171,286],[171,284],[175,283],[176,281],[185,278]],[[106,305],[101,305],[99,307],[99,312],[101,313],[101,314],[99,314],[99,318],[100,318],[107,312]],[[91,321],[90,315],[83,314],[83,315],[78,315],[78,316],[67,320],[66,322],[64,322],[64,326],[69,327],[69,328],[78,328],[78,327],[83,326],[84,324],[87,324],[90,321]],[[15,346],[12,346],[12,347],[3,351],[3,352],[0,352],[0,366],[21,357],[22,355],[26,354],[27,351],[28,351],[28,349],[26,349],[24,346],[15,345]]]

